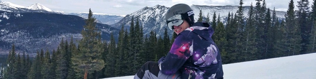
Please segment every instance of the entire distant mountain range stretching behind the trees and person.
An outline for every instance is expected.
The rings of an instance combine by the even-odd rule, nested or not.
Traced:
[[[226,22],[228,12],[235,14],[238,7],[191,5],[195,13],[195,21],[197,21],[199,9],[202,9],[204,17],[208,13],[212,17],[216,11],[216,15],[220,14],[221,20]],[[243,7],[246,17],[249,7]],[[157,36],[163,35],[163,30],[167,27],[165,21],[167,9],[169,8],[156,5],[144,7],[129,15],[94,13],[94,17],[97,19],[97,28],[102,32],[102,39],[109,40],[110,33],[113,33],[117,41],[119,29],[122,25],[129,29],[132,17],[134,17],[134,21],[139,20],[140,25],[144,28],[144,36],[151,30],[154,30]],[[285,13],[276,11],[277,16],[281,18]],[[0,1],[0,54],[8,53],[13,43],[18,52],[26,50],[26,52],[35,53],[41,48],[56,49],[61,38],[70,40],[70,36],[74,36],[75,40],[80,40],[82,38],[80,32],[87,17],[88,13],[55,11],[39,3],[24,7]],[[173,31],[168,31],[170,36],[172,33]]]

